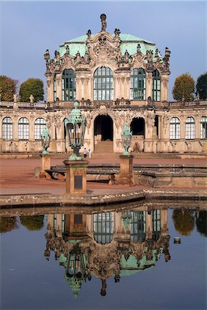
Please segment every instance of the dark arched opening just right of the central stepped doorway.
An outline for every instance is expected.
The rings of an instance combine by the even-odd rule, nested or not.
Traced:
[[[133,118],[130,124],[132,132],[131,149],[133,152],[144,152],[144,118]]]

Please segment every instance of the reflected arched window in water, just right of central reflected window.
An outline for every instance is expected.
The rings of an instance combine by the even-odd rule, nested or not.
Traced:
[[[146,233],[145,211],[131,212],[130,235],[131,241],[143,242]]]

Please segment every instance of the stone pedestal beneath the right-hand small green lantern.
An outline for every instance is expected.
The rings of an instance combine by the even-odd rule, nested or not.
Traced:
[[[120,174],[116,184],[134,185],[133,177],[133,155],[120,155]]]

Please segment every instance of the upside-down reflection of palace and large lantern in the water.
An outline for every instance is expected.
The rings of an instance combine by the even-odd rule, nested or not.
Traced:
[[[107,278],[119,282],[140,270],[155,266],[160,254],[169,254],[168,211],[106,212],[101,214],[57,214],[47,216],[45,257],[65,267],[65,280],[78,296],[83,282],[100,278],[105,296]]]

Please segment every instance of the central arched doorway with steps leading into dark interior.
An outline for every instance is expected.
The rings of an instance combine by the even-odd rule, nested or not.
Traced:
[[[98,115],[94,121],[94,152],[113,152],[113,121],[109,115]]]

